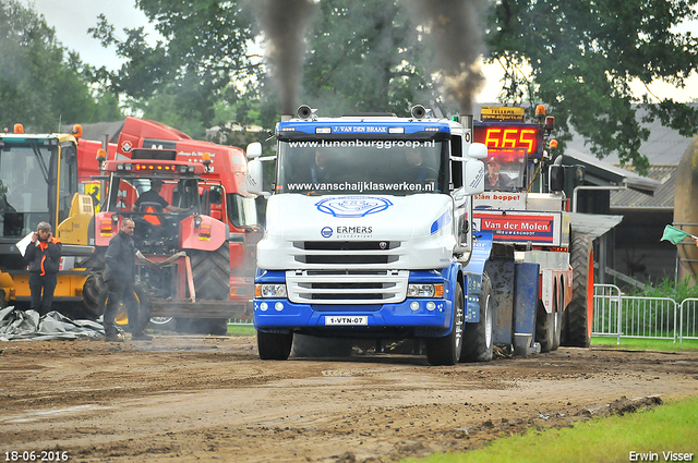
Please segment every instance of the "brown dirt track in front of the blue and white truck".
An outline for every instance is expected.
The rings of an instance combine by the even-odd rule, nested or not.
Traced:
[[[0,375],[2,455],[392,462],[696,395],[698,353],[559,349],[430,367],[385,354],[262,362],[254,338],[156,336],[2,343]]]

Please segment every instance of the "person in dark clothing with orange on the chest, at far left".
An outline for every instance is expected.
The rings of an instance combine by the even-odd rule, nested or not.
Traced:
[[[32,308],[39,315],[46,315],[51,312],[53,290],[61,265],[61,243],[51,235],[49,223],[39,222],[32,235],[32,242],[26,247],[24,260],[29,266]]]

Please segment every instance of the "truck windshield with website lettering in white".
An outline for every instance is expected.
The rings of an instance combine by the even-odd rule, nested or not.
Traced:
[[[447,145],[418,141],[279,143],[277,193],[387,194],[445,191]]]

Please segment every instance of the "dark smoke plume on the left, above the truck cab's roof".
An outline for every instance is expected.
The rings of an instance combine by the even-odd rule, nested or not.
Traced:
[[[281,96],[281,113],[296,112],[303,75],[303,36],[315,14],[312,0],[261,0],[254,3],[265,37],[265,56]]]

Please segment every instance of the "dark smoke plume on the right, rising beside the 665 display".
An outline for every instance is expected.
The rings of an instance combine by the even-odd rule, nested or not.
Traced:
[[[482,44],[482,2],[479,0],[409,0],[414,23],[434,51],[435,71],[446,96],[461,113],[472,113],[472,101],[484,84],[479,58]]]

